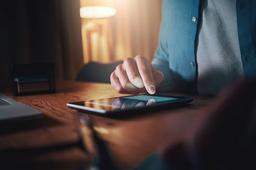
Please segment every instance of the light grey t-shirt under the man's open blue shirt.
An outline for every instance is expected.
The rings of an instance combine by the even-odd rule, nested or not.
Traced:
[[[198,94],[216,95],[244,79],[236,21],[236,0],[205,0],[199,26]]]

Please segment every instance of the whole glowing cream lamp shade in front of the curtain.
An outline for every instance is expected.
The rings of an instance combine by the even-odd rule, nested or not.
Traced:
[[[81,18],[105,18],[116,14],[113,0],[80,0]]]

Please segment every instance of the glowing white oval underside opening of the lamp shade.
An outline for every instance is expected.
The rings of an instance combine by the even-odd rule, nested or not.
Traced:
[[[107,6],[86,6],[80,8],[81,18],[105,18],[116,14],[116,9]]]

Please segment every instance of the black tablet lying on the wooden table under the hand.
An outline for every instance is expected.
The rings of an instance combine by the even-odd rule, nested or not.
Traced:
[[[124,114],[131,115],[148,111],[158,111],[169,107],[184,105],[192,101],[192,97],[140,94],[72,102],[67,103],[67,106],[80,112],[100,116],[122,116]]]

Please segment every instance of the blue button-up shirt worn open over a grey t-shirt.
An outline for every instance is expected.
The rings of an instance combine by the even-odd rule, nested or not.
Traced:
[[[165,75],[158,92],[197,94],[195,51],[200,1],[163,0],[160,44],[152,61],[154,67]],[[256,0],[236,0],[236,11],[244,77],[256,78]]]

